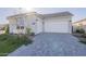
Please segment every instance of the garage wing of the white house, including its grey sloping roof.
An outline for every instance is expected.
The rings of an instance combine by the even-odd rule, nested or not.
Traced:
[[[37,23],[39,33],[72,33],[72,16],[70,12],[45,14]]]

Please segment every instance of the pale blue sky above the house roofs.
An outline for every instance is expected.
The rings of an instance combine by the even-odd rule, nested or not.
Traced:
[[[0,8],[0,24],[8,23],[7,16],[20,13],[19,8]],[[35,8],[34,11],[42,14],[69,11],[73,16],[73,22],[86,17],[86,8]],[[23,9],[22,12],[27,12]]]

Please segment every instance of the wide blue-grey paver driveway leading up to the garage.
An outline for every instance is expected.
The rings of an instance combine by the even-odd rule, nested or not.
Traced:
[[[70,56],[86,55],[86,44],[78,42],[78,39],[70,34],[39,34],[34,42],[22,46],[10,56]]]

